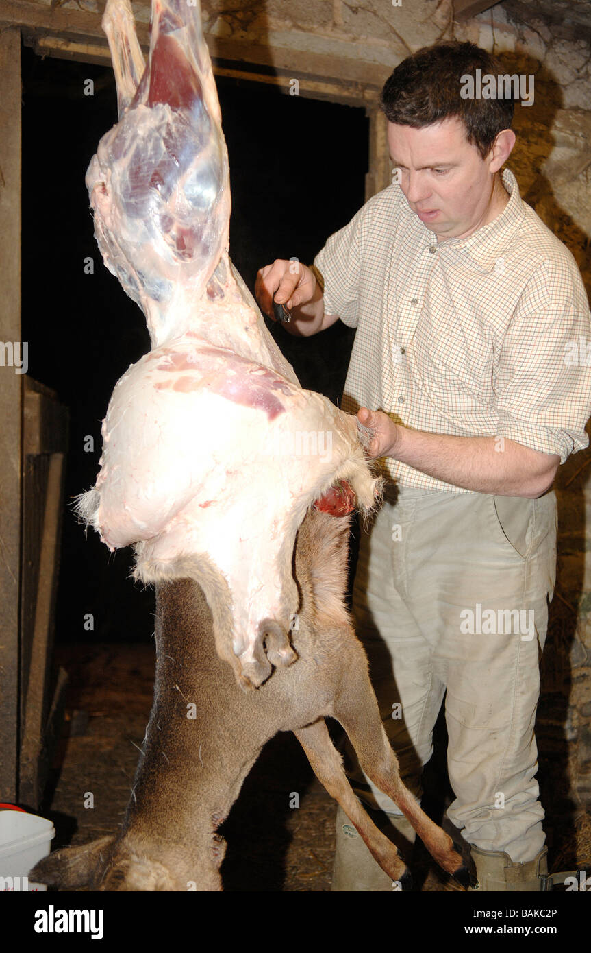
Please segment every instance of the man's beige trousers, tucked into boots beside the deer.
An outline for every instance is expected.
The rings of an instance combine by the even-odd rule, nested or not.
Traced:
[[[556,572],[556,497],[493,497],[391,485],[362,532],[356,631],[386,733],[418,797],[445,696],[447,815],[466,841],[514,862],[542,849],[534,738],[539,660]],[[400,813],[364,776],[369,806]]]

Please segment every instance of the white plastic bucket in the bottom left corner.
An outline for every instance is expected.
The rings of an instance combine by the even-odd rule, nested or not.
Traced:
[[[47,857],[55,828],[51,821],[24,811],[0,811],[0,892],[47,890],[43,883],[30,883],[35,863]]]

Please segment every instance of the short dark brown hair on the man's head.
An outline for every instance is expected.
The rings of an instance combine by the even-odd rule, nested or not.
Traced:
[[[512,98],[463,99],[462,77],[476,78],[476,71],[504,73],[495,56],[474,43],[455,41],[424,47],[406,57],[386,79],[380,97],[386,118],[398,126],[422,129],[458,116],[466,138],[483,158],[499,132],[510,129]]]

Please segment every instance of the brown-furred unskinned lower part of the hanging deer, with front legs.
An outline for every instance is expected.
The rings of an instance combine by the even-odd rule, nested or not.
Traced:
[[[444,870],[466,881],[451,839],[404,787],[345,608],[349,517],[310,510],[294,575],[301,605],[297,660],[256,691],[237,686],[220,659],[207,600],[194,579],[156,586],[156,679],[145,751],[119,835],[56,851],[30,872],[60,889],[221,890],[225,841],[217,833],[266,741],[293,731],[328,793],[393,881],[408,874],[346,780],[325,718],[343,725],[365,772],[397,802]],[[187,704],[196,719],[187,718]]]

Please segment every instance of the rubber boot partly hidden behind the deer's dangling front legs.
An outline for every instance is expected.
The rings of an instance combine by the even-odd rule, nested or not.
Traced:
[[[384,814],[365,807],[371,820],[390,841],[398,847],[404,859],[409,859],[415,842],[415,831],[404,815]],[[369,848],[345,811],[337,806],[337,842],[332,874],[332,891],[364,891],[366,893],[388,892],[399,889],[379,863],[374,861]]]

